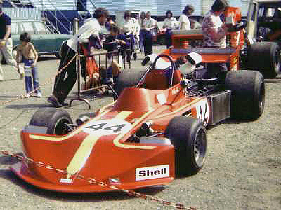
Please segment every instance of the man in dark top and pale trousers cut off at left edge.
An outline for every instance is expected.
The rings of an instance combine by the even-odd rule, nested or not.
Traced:
[[[1,60],[3,56],[6,62],[17,69],[17,62],[13,59],[13,40],[11,38],[11,18],[2,11],[3,0],[0,0],[0,81],[4,80]],[[23,71],[20,69],[20,78],[23,78]]]

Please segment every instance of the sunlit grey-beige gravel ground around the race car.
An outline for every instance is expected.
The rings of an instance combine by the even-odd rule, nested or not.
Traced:
[[[155,52],[163,47],[155,46]],[[143,58],[143,55],[139,56]],[[141,59],[133,62],[139,66]],[[41,58],[39,80],[43,97],[16,99],[25,93],[23,80],[10,66],[4,66],[5,80],[0,82],[0,150],[21,151],[20,130],[51,94],[59,60]],[[70,99],[77,94],[75,87]],[[180,202],[197,209],[281,209],[281,78],[266,80],[266,106],[256,121],[225,120],[209,127],[207,161],[196,175],[176,179],[168,186],[143,188],[138,192]],[[91,110],[83,102],[67,108],[72,119],[93,113],[112,102],[112,97],[87,95]],[[9,169],[17,162],[0,155],[0,209],[172,209],[157,202],[125,193],[67,194],[41,190],[18,179]]]

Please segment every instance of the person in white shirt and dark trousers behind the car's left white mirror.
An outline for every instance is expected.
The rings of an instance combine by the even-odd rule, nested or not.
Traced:
[[[146,30],[143,41],[145,56],[153,53],[153,36],[155,35],[155,28],[157,27],[157,21],[151,18],[150,15],[151,13],[148,11],[145,20],[143,20],[143,27]]]

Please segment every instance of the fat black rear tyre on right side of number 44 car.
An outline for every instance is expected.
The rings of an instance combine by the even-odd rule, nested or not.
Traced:
[[[256,120],[265,102],[265,85],[259,71],[228,71],[226,90],[231,90],[231,118]]]

